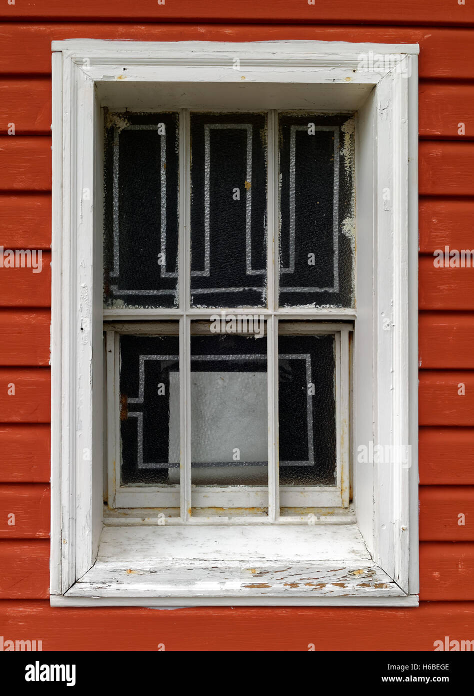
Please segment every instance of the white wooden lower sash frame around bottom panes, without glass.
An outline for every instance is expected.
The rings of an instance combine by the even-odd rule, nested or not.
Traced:
[[[348,507],[350,468],[350,356],[349,333],[352,324],[298,322],[297,329],[286,327],[284,333],[300,331],[302,335],[334,334],[336,347],[336,484],[334,486],[281,486],[277,452],[278,434],[278,317],[267,324],[268,384],[268,486],[205,486],[193,485],[190,452],[190,324],[194,317],[179,319],[179,407],[180,407],[180,484],[176,486],[121,486],[120,484],[120,335],[123,333],[159,335],[166,325],[156,322],[140,324],[106,324],[106,379],[108,433],[108,507],[174,509],[171,514],[183,523],[206,516],[206,507],[229,509],[229,521],[241,523],[307,523],[306,514],[282,515],[281,508]],[[161,329],[161,331],[160,331]],[[191,492],[192,491],[192,492]],[[211,498],[209,494],[211,493]],[[267,508],[268,514],[239,516],[236,508]],[[233,513],[234,510],[234,514]],[[196,514],[197,512],[197,514]],[[259,511],[256,510],[256,513]],[[222,516],[209,521],[220,524]]]

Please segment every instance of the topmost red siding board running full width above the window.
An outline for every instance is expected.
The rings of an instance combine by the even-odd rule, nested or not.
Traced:
[[[82,0],[81,3],[65,3],[62,0],[29,0],[28,3],[5,5],[0,17],[14,19],[96,19],[107,21],[136,20],[145,22],[285,22],[319,23],[350,22],[370,24],[474,24],[473,8],[466,3],[446,3],[446,0],[398,0],[383,3],[374,8],[373,0],[318,0],[309,3],[288,3],[287,0],[240,0],[239,3],[222,3],[220,0],[180,0],[179,3],[158,5],[145,0],[131,5],[127,0]]]

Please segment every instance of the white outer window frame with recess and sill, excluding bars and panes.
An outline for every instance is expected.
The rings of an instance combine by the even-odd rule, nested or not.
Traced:
[[[322,512],[304,527],[248,525],[241,547],[231,529],[205,523],[104,525],[101,95],[123,85],[139,101],[158,81],[218,94],[245,79],[249,94],[318,86],[313,110],[357,110],[357,310],[319,318],[357,321],[352,453],[370,441],[396,452],[418,438],[418,46],[70,40],[53,51],[51,604],[416,606],[416,446],[409,468],[353,461],[357,524],[328,524]],[[361,60],[370,55],[391,62]],[[266,582],[249,583],[260,573]]]

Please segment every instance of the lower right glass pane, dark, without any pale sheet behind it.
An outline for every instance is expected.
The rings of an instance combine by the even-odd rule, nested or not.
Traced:
[[[335,336],[278,337],[281,486],[336,484]]]

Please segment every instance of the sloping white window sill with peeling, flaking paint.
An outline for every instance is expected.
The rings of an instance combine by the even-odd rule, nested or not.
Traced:
[[[51,604],[417,606],[418,598],[373,562],[353,524],[193,525],[104,528],[97,562]]]

